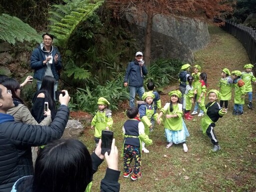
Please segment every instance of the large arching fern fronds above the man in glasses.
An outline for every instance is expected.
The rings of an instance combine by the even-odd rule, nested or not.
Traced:
[[[76,28],[89,18],[103,3],[103,0],[64,0],[65,4],[55,4],[49,10],[50,32],[56,44],[66,49]]]

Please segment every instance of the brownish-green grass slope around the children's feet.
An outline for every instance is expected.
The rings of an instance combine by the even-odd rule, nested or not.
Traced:
[[[242,70],[249,59],[235,37],[216,26],[209,26],[209,32],[210,43],[195,53],[195,59],[202,63],[202,71],[208,75],[209,88],[216,88],[221,68]],[[254,101],[253,105],[256,106]],[[166,149],[163,125],[155,125],[150,134],[153,144],[147,147],[150,152],[142,154],[142,177],[136,181],[122,176],[121,128],[127,118],[123,111],[115,112],[113,130],[120,154],[120,191],[255,191],[255,109],[249,110],[244,105],[244,114],[233,116],[232,106],[231,100],[228,113],[217,121],[214,128],[221,146],[216,153],[211,152],[210,139],[199,130],[200,117],[195,116],[196,121],[186,121],[190,133],[186,141],[187,153],[183,152],[181,144]],[[92,129],[87,127],[81,139],[90,151],[94,149]],[[105,168],[103,162],[94,174],[92,191],[99,191]]]

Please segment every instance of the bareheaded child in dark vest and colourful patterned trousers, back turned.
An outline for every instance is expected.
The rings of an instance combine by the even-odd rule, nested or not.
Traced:
[[[144,124],[139,119],[138,108],[133,106],[126,111],[128,120],[122,126],[123,140],[123,176],[136,180],[141,177],[141,141],[151,144],[152,140],[144,132]],[[134,160],[134,168],[130,167],[130,162]]]

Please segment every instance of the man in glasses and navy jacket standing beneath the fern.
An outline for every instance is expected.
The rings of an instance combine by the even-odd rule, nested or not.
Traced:
[[[31,54],[30,67],[34,69],[34,78],[36,79],[37,90],[41,87],[44,76],[52,76],[56,79],[54,92],[58,85],[58,70],[62,68],[61,56],[57,47],[52,46],[53,35],[49,33],[42,34],[43,42],[35,48]]]

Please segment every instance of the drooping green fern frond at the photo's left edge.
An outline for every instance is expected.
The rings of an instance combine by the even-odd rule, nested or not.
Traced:
[[[41,41],[35,29],[19,18],[8,14],[0,14],[0,39],[11,44],[17,41]]]

